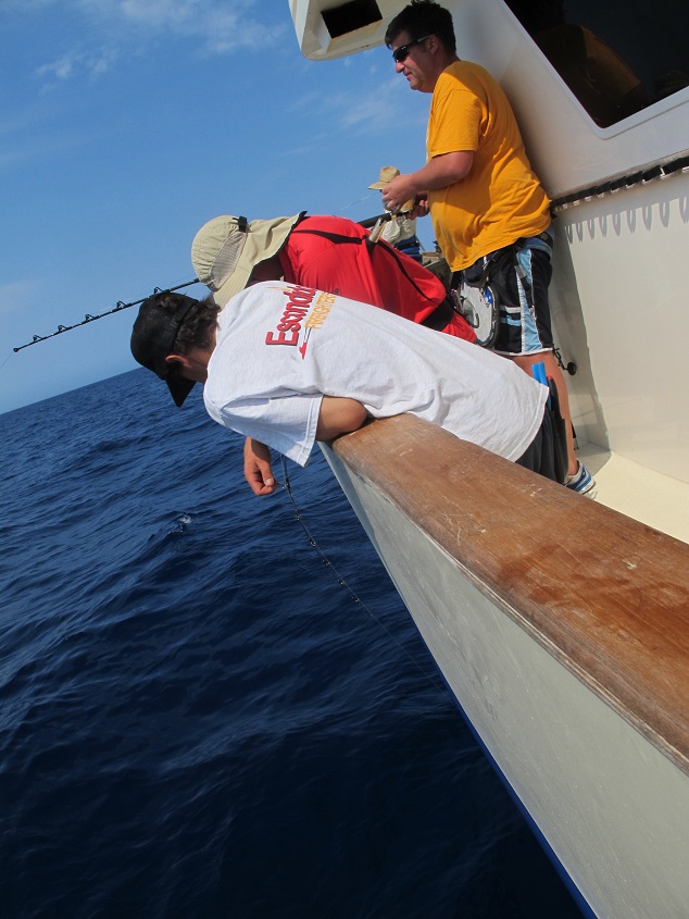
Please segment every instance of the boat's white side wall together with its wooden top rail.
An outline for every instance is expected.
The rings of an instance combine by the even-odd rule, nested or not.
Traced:
[[[689,547],[409,415],[325,451],[592,915],[687,916]]]

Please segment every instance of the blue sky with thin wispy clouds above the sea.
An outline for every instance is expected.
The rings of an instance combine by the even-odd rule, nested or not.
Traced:
[[[362,220],[424,161],[429,97],[306,61],[288,0],[2,0],[0,53],[0,412],[134,369],[136,307],[13,348],[190,281],[206,220]]]

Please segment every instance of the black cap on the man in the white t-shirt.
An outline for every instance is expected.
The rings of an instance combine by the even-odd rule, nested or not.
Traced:
[[[131,330],[131,353],[142,367],[152,370],[165,381],[175,405],[179,407],[193,389],[193,381],[180,376],[177,365],[167,363],[165,358],[175,352],[175,341],[181,323],[199,300],[177,294],[178,306],[168,310],[160,303],[160,296],[153,294],[139,307],[139,314]]]

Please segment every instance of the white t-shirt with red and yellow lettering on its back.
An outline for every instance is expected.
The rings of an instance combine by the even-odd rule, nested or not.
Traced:
[[[323,396],[402,412],[509,460],[529,446],[548,390],[512,361],[386,310],[268,281],[218,319],[203,389],[215,421],[305,465]]]

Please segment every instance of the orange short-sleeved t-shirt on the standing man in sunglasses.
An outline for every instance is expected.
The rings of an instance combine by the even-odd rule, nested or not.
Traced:
[[[531,170],[514,113],[498,82],[478,64],[456,61],[433,92],[428,160],[474,152],[469,173],[428,193],[436,239],[452,271],[550,224],[550,201]]]

